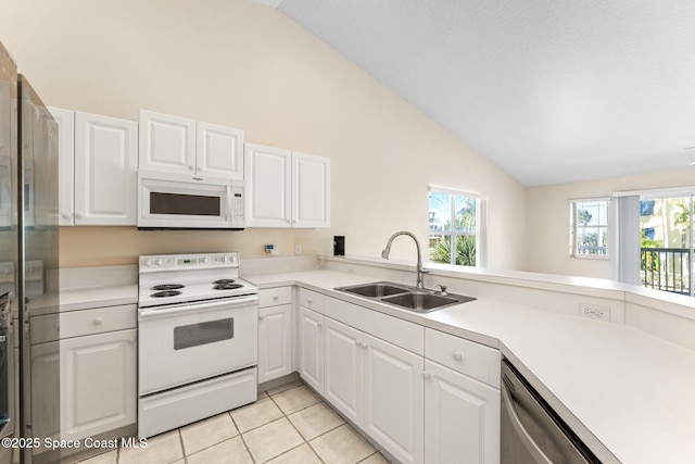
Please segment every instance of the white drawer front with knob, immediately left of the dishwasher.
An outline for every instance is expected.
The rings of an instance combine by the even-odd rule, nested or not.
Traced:
[[[500,351],[444,334],[425,329],[425,358],[500,388]]]

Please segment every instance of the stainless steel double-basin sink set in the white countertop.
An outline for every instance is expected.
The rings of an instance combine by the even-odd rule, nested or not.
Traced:
[[[426,290],[388,281],[338,287],[336,290],[369,298],[418,313],[429,313],[475,300],[472,297],[438,292],[435,290]]]

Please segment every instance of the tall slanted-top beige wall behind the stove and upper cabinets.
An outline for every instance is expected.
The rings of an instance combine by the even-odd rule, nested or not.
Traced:
[[[526,188],[277,10],[245,0],[0,0],[0,41],[47,104],[128,120],[139,109],[244,129],[331,159],[332,227],[242,233],[61,228],[63,266],[239,250],[378,256],[427,240],[427,186],[490,200],[489,265],[526,266]],[[413,260],[399,239],[393,258]]]

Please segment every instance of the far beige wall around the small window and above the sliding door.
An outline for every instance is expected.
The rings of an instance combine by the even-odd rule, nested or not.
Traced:
[[[671,173],[529,188],[528,269],[614,279],[617,265],[615,248],[610,243],[608,260],[569,256],[569,200],[610,197],[616,191],[693,185],[695,185],[695,171],[684,168]]]

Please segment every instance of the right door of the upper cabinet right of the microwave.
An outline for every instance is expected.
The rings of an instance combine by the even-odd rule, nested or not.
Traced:
[[[292,153],[293,227],[330,226],[330,160]]]

